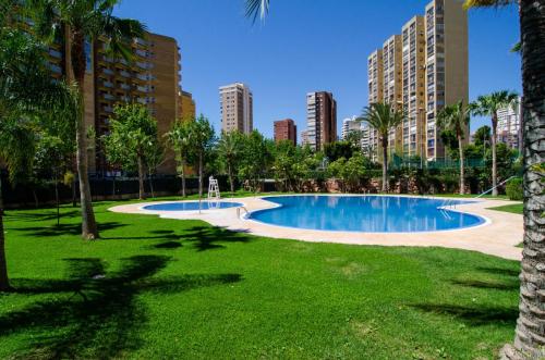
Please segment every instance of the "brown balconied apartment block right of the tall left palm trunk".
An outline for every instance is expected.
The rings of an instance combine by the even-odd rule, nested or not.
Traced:
[[[128,63],[113,59],[106,45],[96,41],[87,49],[85,88],[85,120],[97,136],[108,133],[108,119],[117,103],[138,102],[146,105],[157,120],[159,137],[179,117],[180,53],[177,41],[167,36],[148,33],[145,39],[134,39],[134,59]],[[89,169],[107,173],[110,169],[99,147],[89,157]],[[96,160],[96,161],[94,161]],[[173,154],[167,152],[160,173],[175,173]]]

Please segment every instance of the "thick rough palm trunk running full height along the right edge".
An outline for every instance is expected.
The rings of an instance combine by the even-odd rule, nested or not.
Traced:
[[[514,347],[502,349],[502,359],[545,357],[545,4],[520,1],[524,142],[524,249],[520,275],[519,319]]]

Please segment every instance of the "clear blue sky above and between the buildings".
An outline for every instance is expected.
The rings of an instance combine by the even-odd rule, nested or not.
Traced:
[[[367,101],[366,59],[427,0],[271,0],[265,23],[244,17],[243,0],[125,0],[116,13],[171,36],[182,53],[182,87],[197,113],[220,126],[218,87],[247,84],[254,127],[268,137],[272,122],[305,127],[305,95],[334,92],[339,126]],[[521,91],[514,7],[470,12],[470,98],[499,89]],[[472,129],[487,124],[473,121]]]

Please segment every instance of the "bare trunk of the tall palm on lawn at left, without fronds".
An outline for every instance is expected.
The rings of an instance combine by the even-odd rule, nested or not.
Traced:
[[[84,104],[84,79],[85,79],[85,37],[82,33],[71,34],[71,46],[69,46],[69,59],[72,70],[72,76],[76,82],[78,89],[77,119],[76,119],[76,147],[77,147],[77,174],[80,176],[80,204],[82,208],[82,237],[86,240],[98,238],[98,228],[93,210],[90,197],[90,184],[88,177],[87,162],[87,128],[85,127],[85,104]]]

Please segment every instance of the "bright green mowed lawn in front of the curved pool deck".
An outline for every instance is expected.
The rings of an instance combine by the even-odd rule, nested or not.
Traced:
[[[308,244],[199,221],[8,211],[16,291],[0,358],[493,359],[513,338],[519,264],[440,248]]]

